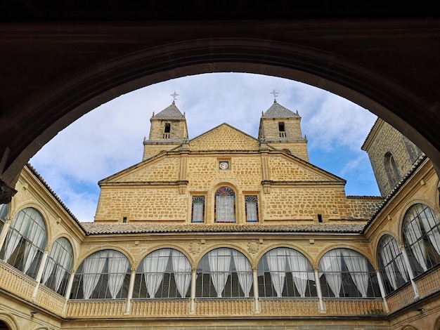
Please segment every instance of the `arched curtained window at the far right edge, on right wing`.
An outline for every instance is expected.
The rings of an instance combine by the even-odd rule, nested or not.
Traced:
[[[425,204],[414,204],[403,219],[403,242],[414,275],[440,263],[439,219]]]

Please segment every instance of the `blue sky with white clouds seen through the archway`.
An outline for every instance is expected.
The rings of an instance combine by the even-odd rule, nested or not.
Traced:
[[[261,112],[273,103],[302,117],[311,164],[347,180],[347,195],[379,195],[361,145],[375,114],[337,95],[288,79],[212,73],[172,79],[119,96],[58,133],[30,159],[82,222],[93,221],[98,181],[141,161],[153,112],[172,103],[186,113],[189,138],[228,123],[257,138]]]

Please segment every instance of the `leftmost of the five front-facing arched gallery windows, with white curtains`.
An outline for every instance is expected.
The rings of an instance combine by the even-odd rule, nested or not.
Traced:
[[[130,263],[124,254],[102,250],[84,259],[75,274],[72,299],[127,298]]]

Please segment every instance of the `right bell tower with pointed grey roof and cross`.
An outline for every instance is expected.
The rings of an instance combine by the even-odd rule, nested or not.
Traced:
[[[275,91],[273,94],[275,96]],[[261,114],[258,138],[278,150],[286,150],[296,157],[309,161],[307,138],[302,137],[301,117],[280,105],[273,105]]]

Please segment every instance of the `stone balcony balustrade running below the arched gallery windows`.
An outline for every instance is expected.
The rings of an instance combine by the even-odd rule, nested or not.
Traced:
[[[440,268],[415,279],[420,298],[439,291]],[[413,286],[406,284],[386,297],[389,312],[381,298],[323,298],[321,310],[318,298],[228,298],[149,300],[127,299],[66,300],[39,285],[8,263],[0,260],[0,290],[2,296],[16,297],[22,303],[32,305],[41,312],[49,312],[64,319],[105,318],[188,318],[188,317],[374,317],[386,316],[415,301]],[[128,305],[127,305],[128,304]]]

